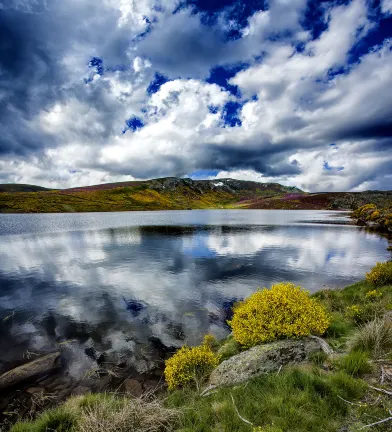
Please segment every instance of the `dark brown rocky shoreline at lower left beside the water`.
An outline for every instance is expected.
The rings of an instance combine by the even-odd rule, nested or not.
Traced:
[[[0,375],[0,431],[70,396],[116,391],[139,397],[164,388],[163,359],[144,373],[126,363],[97,363],[95,370],[77,379],[66,370],[64,357],[61,351],[42,354]]]

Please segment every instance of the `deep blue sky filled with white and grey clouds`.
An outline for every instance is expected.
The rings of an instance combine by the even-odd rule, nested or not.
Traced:
[[[0,0],[0,183],[392,189],[392,0]]]

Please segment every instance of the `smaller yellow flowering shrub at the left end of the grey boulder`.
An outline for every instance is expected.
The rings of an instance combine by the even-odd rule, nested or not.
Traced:
[[[206,343],[197,347],[183,346],[166,361],[165,379],[169,390],[192,381],[199,388],[203,380],[219,364],[219,355]]]

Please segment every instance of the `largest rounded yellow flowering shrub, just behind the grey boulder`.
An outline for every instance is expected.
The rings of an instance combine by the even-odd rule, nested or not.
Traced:
[[[329,316],[307,291],[286,282],[259,290],[238,303],[228,323],[234,339],[251,347],[284,337],[323,334]]]

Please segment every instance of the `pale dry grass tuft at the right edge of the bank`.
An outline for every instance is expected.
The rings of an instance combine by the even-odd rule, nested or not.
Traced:
[[[361,326],[353,335],[350,346],[375,358],[392,352],[392,319],[383,317]]]

